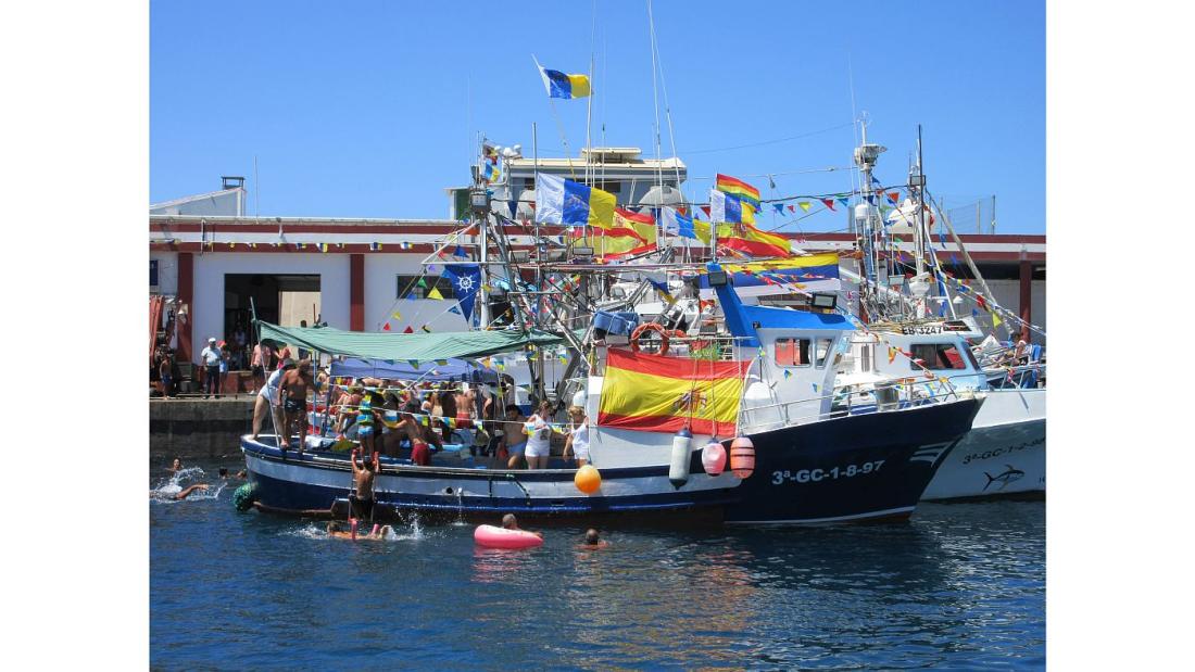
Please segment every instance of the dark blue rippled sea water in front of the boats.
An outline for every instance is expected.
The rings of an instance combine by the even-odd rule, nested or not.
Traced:
[[[151,499],[154,667],[1046,664],[1041,501],[923,504],[902,524],[613,526],[602,550],[577,548],[581,526],[550,526],[543,547],[510,551],[459,524],[329,538],[324,522],[238,513],[240,481],[215,473],[154,479],[212,483]]]

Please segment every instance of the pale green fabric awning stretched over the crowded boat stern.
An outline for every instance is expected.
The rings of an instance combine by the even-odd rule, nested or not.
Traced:
[[[564,343],[564,337],[538,329],[531,333],[492,331],[390,334],[343,332],[331,327],[280,327],[262,321],[258,321],[257,325],[261,328],[262,339],[271,339],[329,355],[349,355],[372,359],[430,362],[453,357],[478,358],[521,350],[528,344],[549,346]]]

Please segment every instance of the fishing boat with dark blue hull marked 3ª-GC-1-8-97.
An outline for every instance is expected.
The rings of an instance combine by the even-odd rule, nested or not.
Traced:
[[[716,265],[709,272],[715,284],[727,279]],[[716,290],[725,314],[724,339],[730,344],[719,350],[718,360],[695,359],[688,356],[692,351],[676,357],[636,352],[633,345],[596,349],[599,360],[583,378],[578,400],[596,419],[590,460],[601,474],[598,492],[581,492],[574,482],[576,469],[559,461],[549,469],[526,470],[479,464],[460,450],[445,451],[430,466],[384,457],[374,483],[375,516],[627,513],[765,525],[908,517],[943,457],[970,429],[981,399],[961,395],[882,413],[833,414],[834,371],[828,356],[844,346],[853,331],[850,322],[835,314],[743,306],[729,283]],[[259,327],[268,338],[313,351],[417,362],[483,357],[564,340],[544,332],[391,335]],[[706,349],[712,340],[707,337]],[[810,347],[822,352],[820,363],[805,365],[791,358],[793,349]],[[688,397],[679,403],[666,399],[670,411],[663,413],[652,411],[658,403],[651,406],[637,396],[642,390],[625,384],[625,376],[624,384],[613,384],[619,372],[648,371],[641,381],[655,377],[656,384],[662,380],[667,388],[669,376],[651,371],[684,369],[695,375],[673,378],[682,383],[672,389],[684,393],[688,386]],[[727,370],[734,374],[721,375]],[[802,388],[827,393],[801,394]],[[722,400],[730,402],[729,430],[723,423],[728,405],[712,402],[725,389],[737,390],[733,399]],[[645,409],[632,406],[619,413],[619,408],[626,411],[627,401],[644,403]],[[743,438],[754,444],[753,469],[734,460],[735,442]],[[731,454],[729,470],[705,470],[701,457],[710,443]],[[299,451],[296,444],[282,445],[268,434],[241,437],[257,507],[347,514],[351,468],[348,456],[330,448],[323,444]]]

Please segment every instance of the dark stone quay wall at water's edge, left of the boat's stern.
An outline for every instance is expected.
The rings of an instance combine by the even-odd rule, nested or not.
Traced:
[[[151,400],[149,457],[220,460],[240,455],[240,434],[253,429],[253,396]]]

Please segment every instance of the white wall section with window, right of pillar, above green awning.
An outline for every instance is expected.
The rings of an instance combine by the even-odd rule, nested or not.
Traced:
[[[366,315],[364,331],[381,331],[382,325],[397,309],[403,315],[400,320],[391,320],[391,331],[402,332],[407,325],[419,332],[421,325],[427,325],[433,332],[460,332],[467,331],[468,323],[465,317],[454,313],[448,313],[448,308],[456,306],[456,300],[446,301],[398,301],[397,276],[417,276],[422,271],[419,261],[425,254],[366,254]],[[442,271],[443,265],[436,264],[436,271]],[[429,273],[430,280],[439,273]]]

